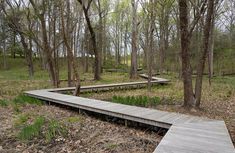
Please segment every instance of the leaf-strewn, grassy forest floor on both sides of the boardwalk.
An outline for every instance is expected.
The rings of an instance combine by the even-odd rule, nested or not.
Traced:
[[[40,76],[32,80],[25,79],[25,76],[22,77],[23,79],[7,76],[8,74],[0,72],[0,100],[2,101],[14,101],[14,98],[25,90],[51,87],[50,82],[47,79],[39,79]],[[201,107],[191,110],[182,107],[182,81],[174,74],[161,77],[171,79],[171,83],[154,86],[151,92],[142,88],[85,93],[81,96],[107,101],[112,101],[113,96],[159,97],[160,103],[151,108],[222,119],[226,122],[233,142],[235,141],[234,76],[214,77],[211,86],[205,77]],[[92,74],[84,74],[81,78],[88,78],[84,79],[82,85],[130,81],[126,73],[104,73],[102,80],[98,82],[91,81]],[[61,87],[63,86],[66,86],[66,82],[62,83]],[[22,123],[22,126],[16,126],[18,120],[25,115],[30,117],[26,117],[27,120]],[[22,128],[31,125],[38,116],[46,119],[41,135],[30,141],[19,139],[18,135]],[[63,132],[57,132],[58,134],[48,142],[45,136],[48,129],[45,127],[54,120],[58,125],[66,127],[67,132],[66,135],[61,134]],[[94,150],[95,152],[152,152],[161,138],[162,136],[153,131],[128,128],[55,106],[27,104],[21,106],[20,111],[17,112],[14,105],[0,106],[0,152],[94,152]]]

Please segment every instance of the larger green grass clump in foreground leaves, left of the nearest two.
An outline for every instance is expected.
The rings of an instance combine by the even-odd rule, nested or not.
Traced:
[[[40,116],[35,119],[33,124],[25,126],[19,133],[18,138],[20,140],[31,140],[34,137],[38,137],[42,130],[42,126],[45,123],[45,118]]]

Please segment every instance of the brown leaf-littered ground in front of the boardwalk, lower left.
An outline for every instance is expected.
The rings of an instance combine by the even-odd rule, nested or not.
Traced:
[[[45,117],[46,123],[40,135],[30,140],[21,140],[23,118],[27,116],[27,124],[36,117]],[[48,140],[46,127],[54,121],[56,128],[61,126],[66,134],[57,131]],[[20,123],[19,123],[20,122]],[[22,125],[19,125],[22,124]],[[56,106],[27,105],[21,113],[15,114],[12,108],[0,108],[0,152],[1,153],[145,153],[153,152],[160,142],[161,136],[155,132],[128,128],[123,125],[105,122],[77,112]]]

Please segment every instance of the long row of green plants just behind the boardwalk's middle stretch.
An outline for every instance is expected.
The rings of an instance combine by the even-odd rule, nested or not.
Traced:
[[[135,105],[141,107],[156,106],[160,104],[160,97],[148,97],[148,96],[113,96],[112,102]]]

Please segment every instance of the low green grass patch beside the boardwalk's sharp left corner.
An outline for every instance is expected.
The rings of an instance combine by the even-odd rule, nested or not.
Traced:
[[[39,99],[29,97],[25,94],[20,94],[12,101],[14,104],[25,105],[25,104],[34,104],[34,105],[42,105],[43,102]]]

